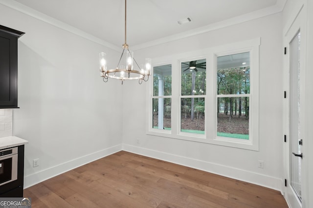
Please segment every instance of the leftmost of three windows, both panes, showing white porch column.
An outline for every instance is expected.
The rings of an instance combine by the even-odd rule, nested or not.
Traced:
[[[171,130],[172,65],[153,68],[153,126],[154,129]]]

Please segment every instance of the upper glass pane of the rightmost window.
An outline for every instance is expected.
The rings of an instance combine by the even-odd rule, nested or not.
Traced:
[[[217,95],[250,93],[250,52],[217,57]]]

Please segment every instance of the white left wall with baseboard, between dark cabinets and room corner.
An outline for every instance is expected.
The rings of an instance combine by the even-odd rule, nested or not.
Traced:
[[[119,53],[2,4],[0,24],[25,32],[13,110],[13,135],[29,141],[24,186],[121,150],[122,88],[103,83],[98,65],[99,52],[114,64]]]

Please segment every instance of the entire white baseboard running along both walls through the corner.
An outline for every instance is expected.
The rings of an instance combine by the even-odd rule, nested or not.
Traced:
[[[67,161],[60,165],[51,167],[46,170],[42,170],[24,177],[24,189],[52,178],[56,175],[64,173],[68,170],[75,169],[79,166],[85,165],[94,160],[100,159],[102,157],[108,156],[118,151],[129,151],[136,154],[168,161],[171,163],[176,163],[179,165],[187,166],[190,168],[195,168],[199,170],[204,170],[206,172],[215,173],[225,177],[245,181],[248,183],[260,185],[270,189],[275,189],[282,192],[283,181],[280,178],[274,178],[268,175],[259,174],[256,172],[241,170],[233,167],[228,167],[216,163],[210,163],[203,160],[197,160],[189,157],[184,157],[180,155],[170,154],[161,151],[155,151],[151,149],[136,147],[132,145],[120,144],[101,151],[97,151],[74,160]]]

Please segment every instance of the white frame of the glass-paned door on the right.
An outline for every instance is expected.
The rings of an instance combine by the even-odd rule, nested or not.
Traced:
[[[301,208],[306,207],[306,196],[307,196],[307,164],[308,159],[306,158],[306,148],[304,146],[306,145],[306,138],[305,138],[305,74],[306,74],[306,42],[307,42],[307,11],[306,11],[306,5],[304,3],[299,4],[299,8],[295,9],[296,13],[291,18],[291,21],[289,24],[286,24],[286,28],[284,30],[284,37],[283,37],[283,45],[287,48],[287,54],[284,55],[284,70],[283,70],[283,79],[284,79],[284,91],[286,91],[286,98],[283,100],[283,135],[286,135],[286,142],[284,142],[283,145],[283,158],[284,158],[284,179],[287,179],[287,186],[283,186],[283,193],[285,196],[285,199],[291,208]],[[291,181],[290,181],[290,158],[293,156],[290,151],[290,124],[289,124],[289,118],[290,118],[290,42],[296,35],[296,33],[300,30],[301,33],[301,52],[300,52],[300,103],[301,103],[301,112],[300,112],[300,122],[301,122],[301,132],[302,132],[302,139],[304,142],[304,145],[302,147],[302,153],[303,153],[303,159],[301,161],[302,167],[301,167],[301,192],[302,192],[302,202],[295,196],[294,190],[291,188]],[[285,185],[285,183],[283,183]]]

